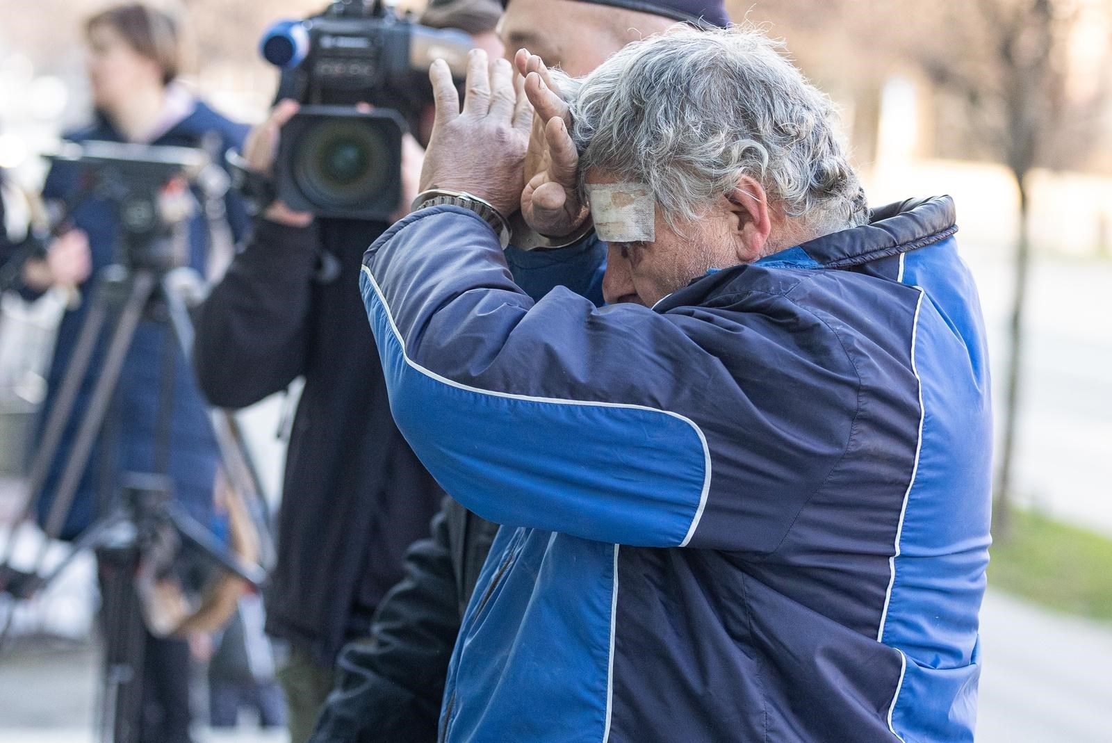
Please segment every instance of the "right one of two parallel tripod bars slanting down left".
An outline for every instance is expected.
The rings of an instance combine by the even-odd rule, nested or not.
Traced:
[[[139,270],[135,273],[131,293],[127,304],[120,313],[116,331],[112,334],[111,344],[108,347],[108,357],[97,386],[92,392],[92,399],[86,412],[85,419],[78,429],[77,440],[70,452],[70,457],[62,470],[61,481],[54,494],[54,502],[51,505],[50,514],[47,517],[46,533],[50,538],[57,538],[66,525],[66,517],[73,497],[77,495],[78,485],[85,468],[89,463],[89,454],[96,442],[97,434],[103,423],[108,404],[119,383],[120,371],[127,358],[128,349],[131,347],[131,339],[135,337],[136,328],[142,318],[143,310],[156,287],[155,276],[150,271]]]

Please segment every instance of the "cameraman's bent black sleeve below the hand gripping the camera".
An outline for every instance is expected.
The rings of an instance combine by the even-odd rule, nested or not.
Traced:
[[[212,405],[257,403],[305,370],[317,230],[259,220],[201,304],[193,364]]]

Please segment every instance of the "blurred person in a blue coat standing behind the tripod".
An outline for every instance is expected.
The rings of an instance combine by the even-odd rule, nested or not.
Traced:
[[[91,17],[85,24],[88,75],[95,110],[88,126],[64,135],[67,140],[136,142],[200,147],[218,142],[222,150],[238,147],[247,128],[224,118],[177,81],[182,59],[181,19],[139,3],[120,4]],[[63,200],[80,188],[78,168],[58,164],[50,170],[42,196]],[[246,215],[235,196],[227,199],[235,235],[246,227]],[[48,249],[44,259],[23,268],[23,295],[33,299],[51,287],[70,287],[76,304],[61,319],[48,377],[42,418],[49,416],[69,366],[99,273],[119,262],[119,220],[112,204],[99,196],[83,201],[70,216],[71,228]],[[197,216],[189,231],[189,265],[203,275],[209,252],[209,227]],[[59,455],[39,502],[40,518],[49,512],[53,491],[72,447],[82,414],[107,353],[101,338]],[[176,341],[158,323],[140,323],[101,436],[89,458],[61,537],[71,539],[103,513],[119,492],[127,472],[156,472],[159,389],[167,346]],[[189,365],[177,351],[173,370],[172,417],[167,468],[175,494],[201,524],[214,524],[212,492],[218,466],[207,407]],[[106,569],[101,565],[101,571]],[[101,575],[103,578],[103,575]],[[183,743],[189,740],[189,647],[185,641],[147,634],[143,650],[143,743]]]

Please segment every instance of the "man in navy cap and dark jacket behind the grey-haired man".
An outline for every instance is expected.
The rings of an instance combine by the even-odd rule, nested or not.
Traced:
[[[728,23],[721,0],[512,0],[503,4],[498,32],[506,59],[514,59],[528,44],[546,65],[576,77],[587,75],[626,43],[661,33],[677,21],[701,28]],[[527,63],[526,59],[520,62]],[[530,227],[544,231],[539,222]],[[514,280],[536,300],[555,286],[564,286],[602,306],[607,245],[593,231],[557,242],[567,245],[532,251],[508,247],[505,256]],[[431,534],[406,554],[405,578],[383,600],[368,635],[341,652],[336,690],[321,711],[311,743],[437,740],[448,662],[498,528],[453,498],[444,499],[433,518]]]

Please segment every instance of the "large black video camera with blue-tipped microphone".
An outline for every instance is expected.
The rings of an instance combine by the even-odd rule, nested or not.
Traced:
[[[271,26],[260,49],[282,70],[277,98],[301,103],[281,132],[278,198],[319,217],[388,219],[401,199],[401,136],[433,102],[428,68],[444,59],[463,81],[470,48],[463,31],[420,26],[381,0],[337,0]]]

